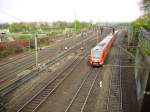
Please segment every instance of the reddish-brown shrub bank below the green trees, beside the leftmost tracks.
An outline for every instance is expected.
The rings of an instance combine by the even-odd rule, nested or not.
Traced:
[[[54,42],[51,37],[39,38],[38,47],[47,46]],[[0,43],[0,58],[21,53],[25,49],[34,49],[35,41],[34,39],[30,40],[15,40],[11,42],[1,42]]]

